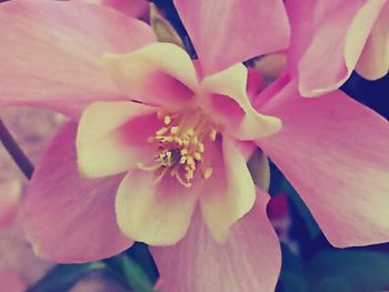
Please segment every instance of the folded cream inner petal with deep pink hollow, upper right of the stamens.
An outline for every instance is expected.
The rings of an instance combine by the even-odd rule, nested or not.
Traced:
[[[207,92],[202,102],[210,103],[211,117],[227,124],[228,132],[241,140],[259,139],[277,132],[281,121],[258,113],[247,95],[247,68],[233,67],[206,78],[201,89]],[[209,100],[207,100],[209,98]]]

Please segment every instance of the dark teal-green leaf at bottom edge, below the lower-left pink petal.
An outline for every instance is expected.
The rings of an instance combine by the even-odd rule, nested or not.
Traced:
[[[102,262],[57,264],[40,281],[29,288],[28,292],[67,292],[87,274],[104,269],[106,264]]]

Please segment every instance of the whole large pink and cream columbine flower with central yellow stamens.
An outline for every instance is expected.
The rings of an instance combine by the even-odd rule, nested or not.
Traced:
[[[0,6],[0,102],[82,115],[58,132],[32,178],[24,225],[36,251],[82,262],[120,252],[131,236],[169,245],[152,248],[162,290],[273,290],[280,251],[268,195],[258,190],[256,198],[246,167],[250,141],[283,171],[333,244],[387,241],[385,119],[340,91],[302,99],[288,75],[251,97],[259,113],[252,111],[240,62],[286,48],[281,1],[176,7],[199,56],[194,68],[178,47],[149,44],[146,24],[101,7]],[[29,54],[33,66],[19,61]],[[174,140],[190,127],[198,138],[187,148],[191,159]]]

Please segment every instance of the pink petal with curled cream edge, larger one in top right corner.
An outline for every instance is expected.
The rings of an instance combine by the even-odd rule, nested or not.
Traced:
[[[385,2],[319,0],[306,7],[287,1],[292,23],[291,58],[296,62],[290,66],[298,67],[302,95],[335,90],[350,77]]]

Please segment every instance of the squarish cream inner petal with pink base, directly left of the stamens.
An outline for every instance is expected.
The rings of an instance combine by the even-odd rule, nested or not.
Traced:
[[[131,101],[96,102],[77,133],[78,165],[90,178],[118,174],[152,160],[148,138],[162,127],[156,109]],[[150,154],[151,153],[151,154]]]

